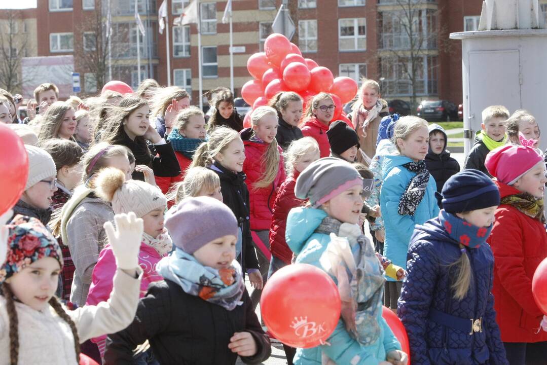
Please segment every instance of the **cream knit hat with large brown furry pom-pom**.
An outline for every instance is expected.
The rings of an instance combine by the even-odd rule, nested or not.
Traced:
[[[124,173],[114,167],[99,171],[95,186],[99,198],[112,203],[115,214],[133,212],[140,218],[167,206],[167,199],[158,187],[139,180],[125,181]]]

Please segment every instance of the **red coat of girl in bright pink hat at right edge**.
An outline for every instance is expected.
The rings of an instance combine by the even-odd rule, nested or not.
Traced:
[[[495,181],[502,196],[520,190]],[[543,314],[532,297],[532,277],[547,257],[544,225],[502,204],[496,210],[496,222],[487,240],[494,253],[494,309],[504,342],[547,341],[547,332],[539,331]]]

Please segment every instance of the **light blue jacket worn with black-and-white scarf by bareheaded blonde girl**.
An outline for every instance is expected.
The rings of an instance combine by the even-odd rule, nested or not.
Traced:
[[[406,170],[402,165],[412,162],[402,155],[387,155],[382,162],[383,183],[380,192],[380,206],[383,225],[386,229],[386,240],[383,243],[383,255],[393,261],[393,264],[406,270],[406,253],[409,249],[410,238],[416,224],[423,224],[439,215],[439,206],[435,191],[437,184],[433,176],[429,175],[426,194],[418,204],[414,216],[401,216],[398,213],[399,200],[406,190],[415,172]],[[395,281],[387,277],[388,281]]]

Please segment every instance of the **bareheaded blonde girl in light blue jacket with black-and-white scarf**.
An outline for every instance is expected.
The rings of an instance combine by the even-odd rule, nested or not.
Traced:
[[[406,253],[414,226],[439,214],[437,184],[423,161],[429,148],[427,121],[402,117],[395,124],[393,142],[398,153],[385,156],[382,164],[380,207],[386,229],[383,254],[406,270]],[[391,277],[387,280],[385,305],[397,309],[403,283]]]

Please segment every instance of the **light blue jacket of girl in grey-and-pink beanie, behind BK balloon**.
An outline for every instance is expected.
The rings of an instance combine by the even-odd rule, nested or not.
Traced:
[[[296,263],[315,265],[323,270],[319,258],[327,248],[330,237],[322,233],[314,233],[323,219],[327,217],[321,209],[298,207],[290,210],[287,218],[285,233],[287,244],[296,255]],[[336,282],[336,278],[331,276]],[[294,364],[321,364],[321,354],[324,352],[336,364],[378,365],[386,360],[386,353],[391,350],[400,350],[400,344],[393,332],[378,315],[380,323],[380,337],[370,346],[362,346],[350,337],[342,318],[338,321],[334,332],[327,339],[329,345],[298,349],[294,357]],[[357,362],[352,362],[359,358]]]

